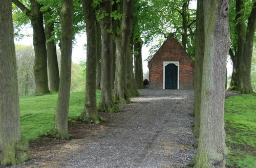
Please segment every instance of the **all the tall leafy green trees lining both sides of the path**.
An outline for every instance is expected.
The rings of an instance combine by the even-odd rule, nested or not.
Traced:
[[[250,74],[251,65],[255,69],[256,3],[198,0],[197,10],[189,9],[189,4],[189,0],[3,0],[0,163],[14,165],[28,159],[28,142],[20,131],[19,95],[58,92],[55,127],[50,134],[70,138],[69,98],[70,91],[76,90],[71,84],[75,34],[87,34],[85,79],[80,81],[86,95],[80,119],[100,124],[98,110],[118,112],[118,104],[131,103],[131,97],[139,96],[137,89],[143,88],[142,45],[173,32],[195,59],[193,132],[197,154],[189,165],[225,167],[226,60],[229,54],[233,64],[230,90],[253,93]],[[33,51],[17,45],[15,57],[14,34],[21,37],[20,26],[25,24],[33,28]],[[97,89],[101,91],[99,106]]]

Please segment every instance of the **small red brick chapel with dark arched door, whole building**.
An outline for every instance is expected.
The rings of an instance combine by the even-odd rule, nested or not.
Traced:
[[[193,89],[194,61],[170,34],[148,62],[149,89]]]

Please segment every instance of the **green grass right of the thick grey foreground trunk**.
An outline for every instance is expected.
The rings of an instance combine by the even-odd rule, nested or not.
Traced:
[[[232,96],[225,101],[229,167],[256,167],[256,96]]]

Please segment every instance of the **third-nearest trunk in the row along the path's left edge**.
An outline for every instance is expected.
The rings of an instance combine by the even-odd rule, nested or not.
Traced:
[[[81,118],[85,121],[100,123],[96,108],[96,72],[98,59],[98,39],[95,10],[92,8],[93,0],[83,0],[82,8],[86,20],[87,58],[86,58],[86,99]]]

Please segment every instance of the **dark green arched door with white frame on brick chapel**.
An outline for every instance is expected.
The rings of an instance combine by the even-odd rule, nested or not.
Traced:
[[[179,63],[164,63],[164,89],[179,89]]]

